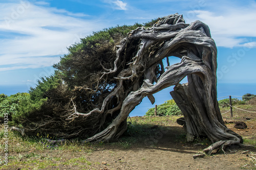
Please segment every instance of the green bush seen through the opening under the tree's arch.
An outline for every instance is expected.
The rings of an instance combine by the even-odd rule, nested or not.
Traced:
[[[175,101],[169,100],[166,101],[164,104],[158,105],[157,107],[157,114],[159,116],[167,116],[167,115],[181,115],[182,112],[180,108],[176,105]],[[146,116],[154,116],[155,115],[155,108],[148,109],[145,114]]]

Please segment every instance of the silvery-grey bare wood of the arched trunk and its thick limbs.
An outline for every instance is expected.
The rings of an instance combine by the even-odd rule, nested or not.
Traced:
[[[170,94],[184,114],[187,141],[193,141],[201,135],[208,136],[212,142],[222,140],[206,149],[207,153],[226,144],[243,142],[242,137],[229,130],[222,120],[216,88],[217,48],[211,39],[209,28],[204,23],[195,21],[188,25],[178,14],[164,17],[154,27],[138,28],[123,39],[117,50],[117,59],[129,51],[129,43],[135,40],[140,41],[140,44],[133,62],[116,78],[120,82],[134,81],[133,91],[124,97],[120,113],[113,123],[86,141],[119,137],[126,129],[127,116],[145,96],[154,103],[152,94],[176,85]],[[181,62],[167,66],[166,70],[162,69],[164,73],[158,78],[157,83],[152,84],[156,79],[154,70],[157,64],[162,65],[162,60],[169,56],[179,57]],[[138,73],[144,76],[144,83],[141,86],[136,81]],[[180,85],[179,82],[186,76],[188,83]],[[123,90],[121,85],[122,83],[118,86],[120,91]]]

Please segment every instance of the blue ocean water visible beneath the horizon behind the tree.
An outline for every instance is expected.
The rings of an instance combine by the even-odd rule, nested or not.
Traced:
[[[173,91],[174,86],[168,87],[154,94],[156,102],[154,105],[151,104],[150,100],[146,97],[142,102],[135,107],[135,109],[130,113],[130,116],[143,116],[148,109],[155,107],[155,105],[163,104],[167,100],[171,100],[172,96],[169,94]],[[4,93],[7,95],[16,94],[17,92],[28,92],[30,86],[27,85],[0,85],[0,94]],[[217,95],[218,99],[222,100],[228,98],[229,95],[232,98],[242,99],[241,97],[246,93],[256,94],[256,83],[255,84],[242,84],[242,83],[218,83],[217,84]],[[226,96],[225,98],[223,98]],[[220,99],[221,98],[221,99]]]

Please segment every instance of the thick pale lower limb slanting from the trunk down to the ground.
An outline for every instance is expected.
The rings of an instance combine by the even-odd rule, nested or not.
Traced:
[[[188,70],[186,69],[187,65],[190,66],[190,69]],[[188,74],[205,71],[207,71],[207,67],[203,62],[197,62],[190,60],[188,57],[183,57],[181,63],[168,67],[155,85],[151,84],[150,80],[145,80],[140,89],[127,95],[123,101],[119,115],[114,119],[112,124],[104,131],[88,138],[86,141],[109,140],[110,133],[115,129],[114,127],[118,127],[127,118],[129,113],[136,105],[138,105],[144,96],[154,94],[166,87],[176,85]],[[114,132],[112,133],[115,134]]]

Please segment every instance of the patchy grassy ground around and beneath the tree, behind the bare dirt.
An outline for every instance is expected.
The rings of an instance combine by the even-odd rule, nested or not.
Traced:
[[[236,107],[245,110],[256,111],[256,100],[247,105],[237,105]],[[224,113],[229,108],[221,108]],[[98,169],[102,162],[88,160],[84,154],[89,155],[95,150],[105,150],[112,148],[133,149],[156,147],[157,144],[171,142],[173,145],[187,144],[185,133],[181,126],[176,123],[180,116],[153,116],[153,117],[132,117],[129,119],[129,128],[124,136],[111,143],[79,143],[79,139],[65,141],[58,144],[51,144],[38,136],[21,137],[16,132],[9,131],[9,164],[0,169],[65,169],[72,166],[74,169]],[[223,115],[229,122],[227,127],[243,136],[245,144],[256,147],[256,113],[248,113],[238,109],[233,109],[233,117],[229,113]],[[250,118],[247,120],[246,118]],[[233,121],[243,120],[248,128],[244,130],[234,129]],[[3,128],[3,126],[2,126]],[[1,128],[1,129],[2,129]],[[167,135],[166,135],[167,134]],[[0,132],[0,162],[3,164],[4,156],[4,131]],[[167,136],[167,137],[165,137]],[[196,143],[202,143],[205,147],[210,144],[207,139],[197,139]],[[104,163],[104,162],[103,162]],[[37,168],[35,168],[35,165]]]

